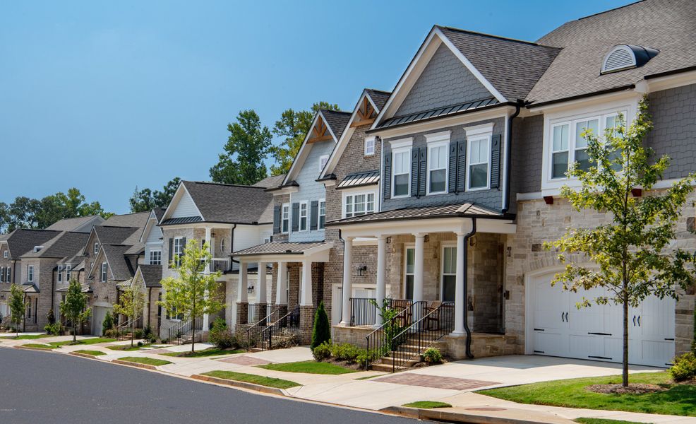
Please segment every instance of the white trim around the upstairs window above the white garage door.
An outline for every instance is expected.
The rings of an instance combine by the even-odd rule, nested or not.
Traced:
[[[625,112],[625,124],[627,127],[630,126],[633,119],[635,119],[639,99],[640,97],[636,96],[635,100],[616,100],[613,102],[607,102],[604,105],[600,106],[589,105],[586,107],[572,110],[570,112],[568,110],[565,110],[565,112],[561,111],[544,114],[544,155],[541,164],[542,196],[557,195],[559,193],[560,187],[563,187],[564,185],[568,185],[568,187],[580,186],[580,181],[577,178],[551,178],[551,148],[553,147],[551,131],[553,129],[553,126],[556,126],[557,124],[563,124],[563,122],[570,122],[568,137],[570,138],[570,141],[572,141],[572,145],[569,144],[568,147],[570,150],[572,150],[573,146],[575,146],[575,134],[573,132],[575,131],[575,127],[573,126],[573,122],[584,121],[587,119],[592,119],[593,117],[599,117],[599,136],[603,137],[606,117],[608,116],[616,115],[618,114],[618,112]],[[574,150],[572,152],[572,155],[572,158],[574,158]],[[570,159],[571,158],[569,154],[568,163],[572,163]]]

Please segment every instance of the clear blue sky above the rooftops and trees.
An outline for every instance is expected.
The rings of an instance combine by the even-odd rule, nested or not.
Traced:
[[[206,180],[255,109],[352,110],[391,90],[432,25],[536,40],[625,0],[13,1],[0,4],[0,201]]]

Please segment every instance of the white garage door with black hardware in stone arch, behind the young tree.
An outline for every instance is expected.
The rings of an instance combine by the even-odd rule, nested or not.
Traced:
[[[539,355],[621,362],[623,313],[620,305],[577,309],[582,298],[594,300],[603,288],[570,293],[551,287],[553,273],[532,280],[532,350]],[[673,299],[650,297],[630,308],[629,362],[665,367],[674,356]]]

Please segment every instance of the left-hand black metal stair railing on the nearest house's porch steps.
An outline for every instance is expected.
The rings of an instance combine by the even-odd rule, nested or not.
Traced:
[[[388,306],[399,312],[388,321],[383,322],[366,338],[367,360],[365,367],[369,368],[374,362],[388,355],[395,346],[392,346],[392,338],[399,334],[414,322],[414,316],[422,315],[428,302],[412,300],[390,299]]]

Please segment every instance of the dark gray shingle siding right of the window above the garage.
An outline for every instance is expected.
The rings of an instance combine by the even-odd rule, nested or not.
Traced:
[[[647,144],[655,158],[671,158],[664,178],[696,172],[696,84],[650,93],[649,112],[655,127]]]

